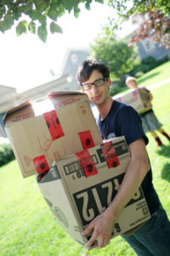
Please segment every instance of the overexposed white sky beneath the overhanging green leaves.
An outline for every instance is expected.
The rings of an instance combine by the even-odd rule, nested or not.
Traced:
[[[88,11],[80,5],[81,13],[63,15],[57,23],[63,33],[50,33],[46,43],[30,32],[16,36],[13,27],[4,34],[0,32],[0,84],[16,88],[20,93],[57,78],[66,49],[88,47],[107,23],[113,9],[101,3],[92,3]],[[118,35],[127,34],[124,28]],[[50,69],[56,74],[52,76]]]

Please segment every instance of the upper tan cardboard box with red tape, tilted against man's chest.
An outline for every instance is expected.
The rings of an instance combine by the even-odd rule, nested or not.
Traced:
[[[54,160],[102,143],[88,96],[76,91],[25,102],[6,113],[4,125],[23,177],[45,172]]]

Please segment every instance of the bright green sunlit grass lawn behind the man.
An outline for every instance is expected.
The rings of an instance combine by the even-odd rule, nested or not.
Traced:
[[[170,70],[170,61],[153,70],[152,74],[155,75],[149,76],[145,83],[159,82],[155,76],[161,76],[165,67]],[[167,78],[170,78],[170,73]],[[152,94],[156,115],[163,124],[164,130],[170,133],[170,83],[153,89]],[[156,148],[154,139],[150,134],[147,135],[150,139],[147,150],[150,155],[154,184],[170,218],[170,143],[161,136],[165,147]],[[82,256],[85,253],[93,256],[136,255],[121,236],[112,239],[110,245],[100,250],[93,249],[88,252],[77,244],[56,224],[37,187],[35,177],[23,178],[16,160],[0,168],[0,194],[1,256]]]

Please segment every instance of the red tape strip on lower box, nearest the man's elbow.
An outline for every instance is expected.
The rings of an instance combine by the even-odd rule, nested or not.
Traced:
[[[120,165],[119,159],[116,154],[116,150],[111,142],[104,143],[102,145],[102,152],[104,154],[105,161],[109,168]]]

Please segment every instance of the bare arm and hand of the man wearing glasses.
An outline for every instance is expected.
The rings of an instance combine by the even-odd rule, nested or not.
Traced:
[[[128,147],[131,153],[131,159],[114,200],[105,212],[94,218],[82,232],[83,236],[88,236],[92,233],[86,247],[91,247],[94,241],[97,241],[96,247],[98,248],[105,247],[109,244],[116,218],[122,211],[122,208],[127,205],[127,202],[132,199],[133,195],[139,189],[144,176],[150,170],[144,139],[139,138],[139,140],[131,143]]]

